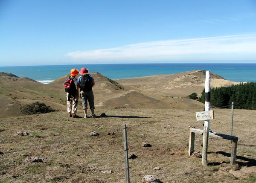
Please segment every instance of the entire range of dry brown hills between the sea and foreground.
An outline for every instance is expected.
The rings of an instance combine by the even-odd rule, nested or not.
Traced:
[[[204,70],[115,81],[100,73],[90,74],[96,83],[93,87],[96,109],[201,109],[204,107],[201,102],[186,99],[186,96],[194,92],[198,93],[198,96],[201,95],[205,82]],[[19,78],[11,73],[0,73],[0,117],[20,116],[21,106],[36,101],[43,102],[54,109],[66,110],[63,82],[67,76],[62,76],[50,84],[42,84],[29,78]],[[211,87],[231,84],[239,83],[225,80],[212,73]],[[79,102],[81,102],[80,99]]]

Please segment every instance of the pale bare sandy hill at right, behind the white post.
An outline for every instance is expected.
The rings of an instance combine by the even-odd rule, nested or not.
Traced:
[[[155,75],[115,80],[126,86],[156,93],[161,96],[186,97],[191,93],[201,96],[204,90],[205,71],[195,70],[171,75]],[[231,86],[238,82],[228,81],[211,73],[211,87]]]

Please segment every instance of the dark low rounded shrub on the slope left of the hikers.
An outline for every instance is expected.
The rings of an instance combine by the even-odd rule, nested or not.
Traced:
[[[20,111],[23,114],[32,115],[40,113],[51,113],[55,110],[52,107],[45,105],[44,103],[34,102],[32,104],[27,104],[23,107],[20,107]]]

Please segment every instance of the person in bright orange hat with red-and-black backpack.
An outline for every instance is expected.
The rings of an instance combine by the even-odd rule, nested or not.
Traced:
[[[64,82],[64,88],[67,92],[67,112],[69,113],[69,117],[77,118],[79,116],[76,115],[77,112],[77,104],[79,99],[79,87],[76,76],[79,74],[79,70],[72,69],[70,71],[70,76],[67,77]],[[72,114],[72,113],[73,114]]]

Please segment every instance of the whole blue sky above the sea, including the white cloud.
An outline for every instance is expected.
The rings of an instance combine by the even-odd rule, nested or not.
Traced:
[[[256,0],[0,0],[0,66],[256,63]]]

